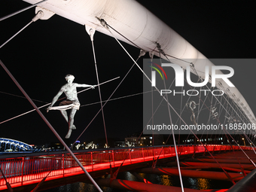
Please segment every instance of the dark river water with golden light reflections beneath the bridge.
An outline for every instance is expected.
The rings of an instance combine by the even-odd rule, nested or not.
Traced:
[[[142,178],[146,178],[148,181],[151,181],[154,184],[163,184],[167,186],[181,187],[181,183],[178,176],[170,175],[153,175],[139,173]],[[117,178],[129,181],[139,181],[133,174],[130,172],[120,172],[117,175]],[[207,189],[227,189],[230,188],[233,184],[229,181],[217,181],[206,178],[187,178],[182,177],[183,186],[185,188],[197,189],[197,190],[207,190]],[[130,190],[118,190],[109,187],[101,187],[104,192],[130,192]],[[98,190],[94,187],[93,184],[86,184],[82,182],[77,182],[74,184],[66,184],[61,187],[56,187],[49,190],[44,190],[44,192],[97,192]]]

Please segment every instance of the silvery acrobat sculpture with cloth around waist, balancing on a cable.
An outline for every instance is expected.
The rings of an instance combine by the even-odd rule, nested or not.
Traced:
[[[50,103],[50,106],[47,108],[47,112],[49,110],[60,110],[61,114],[69,123],[69,132],[66,135],[66,139],[69,139],[71,136],[72,130],[75,130],[76,127],[74,125],[74,117],[76,111],[80,108],[80,102],[78,100],[77,87],[92,87],[94,89],[95,86],[89,84],[75,84],[73,83],[75,77],[73,75],[66,75],[67,84],[63,85],[56,96],[53,97],[53,101]],[[66,100],[59,103],[59,106],[53,107],[54,103],[59,99],[62,93],[65,93]],[[71,109],[69,117],[67,114],[67,109]]]

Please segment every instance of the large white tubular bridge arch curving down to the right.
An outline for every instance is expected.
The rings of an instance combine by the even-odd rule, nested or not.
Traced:
[[[38,0],[23,1],[31,4],[38,2]],[[175,60],[175,63],[179,66],[186,68],[193,62],[197,74],[202,78],[205,78],[205,66],[214,65],[209,59],[206,59],[206,56],[203,56],[200,51],[178,35],[177,32],[134,0],[48,0],[38,6],[40,8],[36,8],[36,12],[38,10],[47,10],[46,16],[42,17],[41,20],[46,20],[53,14],[58,14],[75,23],[92,26],[96,31],[111,35],[96,17],[103,19],[109,26],[120,32],[120,34],[128,38],[142,50],[159,56],[157,49],[157,44],[159,44],[168,59],[173,59],[172,56],[178,58]],[[117,34],[117,32],[113,31],[113,34],[118,39],[132,44],[126,38]],[[222,74],[222,72],[217,71],[216,74]],[[210,72],[210,75],[212,76],[212,72]],[[209,79],[209,82],[211,82],[211,79]],[[242,106],[242,111],[244,111],[245,115],[251,121],[250,123],[256,123],[251,108],[236,87],[229,87],[222,79],[216,82],[216,87],[224,90],[224,93],[227,93],[228,88],[232,94],[231,99],[238,106]]]

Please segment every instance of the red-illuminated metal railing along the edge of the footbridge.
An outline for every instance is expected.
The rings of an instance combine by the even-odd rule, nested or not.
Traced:
[[[232,150],[227,145],[206,145],[209,151]],[[194,154],[206,151],[203,145],[180,145],[177,146],[178,153]],[[241,146],[242,147],[242,146]],[[239,150],[238,146],[233,146]],[[251,150],[250,147],[242,147],[244,150]],[[148,147],[148,148],[118,148],[104,151],[87,151],[75,153],[81,164],[88,172],[100,169],[109,169],[111,166],[141,163],[153,160],[153,158],[163,159],[175,156],[173,146]],[[15,157],[0,159],[0,168],[5,174],[9,184],[17,186],[31,184],[31,181],[39,182],[49,172],[47,179],[66,177],[70,174],[83,174],[81,167],[75,162],[70,154],[48,154],[32,157]],[[0,190],[5,189],[5,179],[0,176]]]

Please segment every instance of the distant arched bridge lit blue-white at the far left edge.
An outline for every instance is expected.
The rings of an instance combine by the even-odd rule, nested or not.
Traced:
[[[0,138],[0,151],[32,151],[31,145],[14,139]]]

